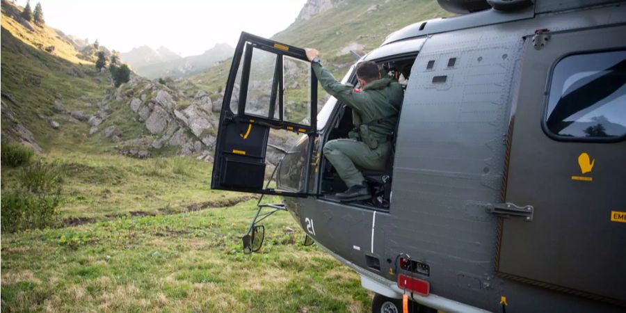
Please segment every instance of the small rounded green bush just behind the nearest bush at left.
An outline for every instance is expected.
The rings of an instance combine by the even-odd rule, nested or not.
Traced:
[[[56,193],[61,190],[63,177],[54,164],[37,163],[22,168],[17,174],[21,188],[32,193]]]

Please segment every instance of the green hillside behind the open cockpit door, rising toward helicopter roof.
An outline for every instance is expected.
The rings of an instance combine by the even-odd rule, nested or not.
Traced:
[[[322,13],[296,20],[271,39],[319,49],[323,65],[340,79],[355,62],[350,50],[366,54],[404,26],[448,16],[451,13],[442,10],[435,0],[339,0],[332,1],[332,8]],[[231,62],[232,58],[223,61],[207,72],[180,81],[177,86],[188,94],[204,90],[220,103],[219,91],[225,86]],[[320,88],[320,98],[325,94]]]

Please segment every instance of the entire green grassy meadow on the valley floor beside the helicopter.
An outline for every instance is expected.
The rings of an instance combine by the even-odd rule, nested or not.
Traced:
[[[257,198],[210,190],[209,163],[56,150],[43,161],[64,174],[58,227],[2,234],[2,312],[369,310],[358,275],[302,246],[285,212],[243,254]],[[2,168],[3,188],[17,172]]]

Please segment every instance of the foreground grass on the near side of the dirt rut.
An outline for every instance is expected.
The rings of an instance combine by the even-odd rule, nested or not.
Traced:
[[[358,275],[282,213],[243,255],[253,201],[174,216],[118,218],[3,235],[2,311],[368,312]]]

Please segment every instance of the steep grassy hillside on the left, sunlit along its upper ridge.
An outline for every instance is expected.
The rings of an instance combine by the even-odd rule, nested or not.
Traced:
[[[54,102],[58,101],[67,111],[97,112],[97,103],[104,98],[106,90],[112,88],[108,72],[99,73],[93,63],[77,58],[79,51],[54,29],[35,26],[35,31],[29,31],[24,28],[8,16],[13,10],[15,6],[2,1],[1,89],[16,103],[8,99],[3,102],[15,112],[17,121],[33,132],[35,141],[47,152],[112,151],[113,143],[102,141],[97,135],[86,136],[89,130],[86,123],[77,123],[67,114],[53,110]],[[49,46],[55,47],[51,53],[42,49]],[[68,74],[71,70],[79,77]],[[118,125],[123,131],[122,139],[147,134],[143,124],[133,118],[134,113],[127,104],[113,101],[109,106],[113,113],[100,129]],[[38,115],[61,123],[61,129],[52,129],[49,122]],[[13,125],[13,121],[3,120],[3,135]]]

